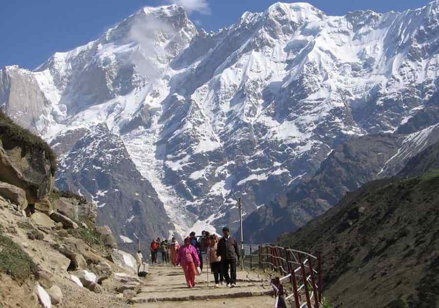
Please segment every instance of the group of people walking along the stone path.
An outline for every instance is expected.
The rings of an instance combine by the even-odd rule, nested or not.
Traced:
[[[184,239],[184,245],[180,247],[176,238],[171,242],[160,241],[157,238],[150,245],[151,263],[157,264],[157,255],[161,252],[162,263],[171,263],[172,266],[181,266],[186,278],[188,288],[195,286],[195,277],[203,270],[204,260],[210,265],[215,279],[215,287],[224,285],[228,288],[236,287],[236,267],[240,258],[240,250],[236,238],[230,235],[228,227],[222,229],[223,236],[219,238],[216,234],[202,231],[197,239],[195,232],[191,232]],[[140,251],[138,252],[140,253]],[[230,275],[229,275],[230,270]]]

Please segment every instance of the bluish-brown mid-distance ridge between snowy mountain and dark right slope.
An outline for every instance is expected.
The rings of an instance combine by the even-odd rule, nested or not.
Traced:
[[[422,123],[418,122],[416,127],[421,128]],[[342,142],[311,178],[293,185],[269,207],[251,213],[244,220],[244,238],[271,242],[282,233],[297,230],[336,205],[347,192],[356,191],[372,180],[398,174],[410,158],[438,141],[436,123],[409,135],[364,135]]]

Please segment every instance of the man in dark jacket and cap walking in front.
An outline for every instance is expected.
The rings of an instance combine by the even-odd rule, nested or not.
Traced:
[[[236,238],[230,236],[229,228],[222,228],[224,235],[218,242],[217,256],[221,256],[222,273],[227,287],[236,287],[236,264],[240,257],[239,245]],[[230,276],[229,276],[230,267]]]

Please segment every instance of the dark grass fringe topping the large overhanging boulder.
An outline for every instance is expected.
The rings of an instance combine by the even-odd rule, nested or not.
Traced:
[[[0,110],[0,140],[4,138],[20,143],[25,151],[44,151],[46,158],[50,160],[52,174],[57,171],[57,156],[52,148],[39,136],[15,124]]]

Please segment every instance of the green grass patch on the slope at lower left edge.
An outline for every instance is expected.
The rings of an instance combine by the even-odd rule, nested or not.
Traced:
[[[0,271],[18,281],[24,281],[35,275],[37,266],[29,255],[9,237],[3,235],[0,228]]]

